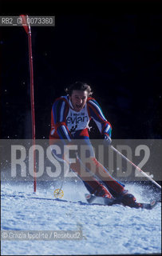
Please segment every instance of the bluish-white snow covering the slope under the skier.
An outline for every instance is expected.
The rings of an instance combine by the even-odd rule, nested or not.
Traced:
[[[62,201],[54,200],[53,183],[2,182],[1,230],[82,230],[81,240],[6,241],[2,255],[160,254],[161,204],[152,210],[89,205],[85,187],[65,182]],[[156,194],[127,185],[139,202]],[[147,191],[146,191],[147,190]],[[145,194],[144,194],[145,192]]]

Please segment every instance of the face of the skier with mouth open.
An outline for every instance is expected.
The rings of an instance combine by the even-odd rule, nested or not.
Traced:
[[[72,95],[69,96],[70,101],[72,102],[73,109],[77,112],[81,111],[88,98],[88,92],[86,90],[73,90]]]

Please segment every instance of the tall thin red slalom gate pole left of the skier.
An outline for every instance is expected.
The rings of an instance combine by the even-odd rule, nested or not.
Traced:
[[[37,178],[36,178],[36,154],[35,154],[35,111],[34,111],[34,68],[32,56],[32,41],[30,22],[28,22],[28,15],[20,15],[22,18],[22,26],[28,35],[29,59],[30,59],[30,102],[31,102],[31,118],[32,118],[32,142],[33,142],[33,158],[34,158],[34,192],[36,192]]]

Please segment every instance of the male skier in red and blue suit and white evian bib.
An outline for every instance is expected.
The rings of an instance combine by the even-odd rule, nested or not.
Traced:
[[[91,87],[84,82],[75,82],[66,89],[66,92],[66,96],[61,96],[53,102],[49,144],[70,146],[81,140],[81,143],[89,148],[90,169],[81,159],[80,150],[77,151],[76,162],[69,162],[69,165],[70,169],[84,182],[89,193],[99,197],[117,198],[125,206],[136,206],[138,204],[136,198],[129,194],[128,190],[124,189],[124,185],[114,179],[95,158],[93,146],[89,140],[90,119],[93,118],[96,122],[104,144],[107,146],[112,142],[112,126],[106,120],[97,101],[91,97],[93,94]],[[64,152],[57,154],[56,150],[53,150],[53,155],[61,162],[68,161],[65,159]]]

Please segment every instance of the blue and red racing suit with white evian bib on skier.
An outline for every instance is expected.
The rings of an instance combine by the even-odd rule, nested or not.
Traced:
[[[73,110],[69,96],[62,96],[53,102],[51,111],[51,130],[49,134],[50,145],[53,145],[57,139],[61,139],[63,144],[73,143],[74,140],[80,140],[89,148],[89,159],[91,161],[91,173],[95,170],[95,175],[91,175],[88,180],[81,174],[83,166],[81,160],[77,158],[76,163],[72,163],[70,168],[77,173],[77,176],[84,182],[86,188],[91,194],[104,185],[113,197],[117,197],[124,191],[124,185],[117,182],[109,171],[101,165],[95,158],[93,146],[89,140],[89,121],[93,118],[96,122],[101,135],[109,135],[111,137],[112,126],[106,120],[102,113],[101,106],[94,98],[88,98],[84,108],[77,112]],[[64,157],[63,154],[61,156]],[[87,170],[88,167],[85,166]],[[106,178],[103,180],[103,176]]]

